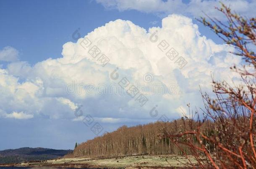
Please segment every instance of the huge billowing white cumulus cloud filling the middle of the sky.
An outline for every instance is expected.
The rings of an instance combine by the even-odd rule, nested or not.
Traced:
[[[153,33],[156,33],[156,42],[150,40]],[[107,65],[103,67],[81,46],[85,38],[91,40],[90,47],[97,45],[110,59]],[[84,114],[103,122],[148,121],[152,119],[149,111],[158,105],[159,116],[153,119],[158,119],[160,114],[172,119],[180,116],[180,108],[184,109],[186,103],[202,106],[199,85],[211,91],[211,74],[218,79],[234,80],[235,74],[229,67],[240,63],[239,58],[228,53],[232,48],[201,36],[198,26],[181,15],[170,15],[162,20],[161,28],[153,27],[148,31],[131,21],[115,20],[96,28],[85,38],[65,43],[63,58],[49,58],[34,66],[15,62],[6,70],[0,70],[0,116],[77,120],[73,112],[82,104]],[[182,69],[159,49],[162,40],[187,61]],[[117,67],[119,79],[113,80],[110,75]],[[97,86],[116,84],[126,77],[131,82],[143,83],[145,73],[154,75],[150,84],[175,84],[175,90],[172,94],[145,93],[149,101],[142,107],[128,95],[66,91],[67,85],[74,81],[77,85]],[[18,116],[13,112],[22,114]]]

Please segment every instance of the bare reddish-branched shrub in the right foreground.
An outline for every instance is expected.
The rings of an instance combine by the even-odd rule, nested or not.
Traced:
[[[231,53],[243,58],[243,65],[230,68],[240,75],[241,83],[231,85],[212,78],[216,98],[201,92],[204,119],[198,119],[194,127],[196,116],[190,111],[191,117],[184,120],[189,123],[184,125],[184,132],[173,134],[164,130],[164,135],[181,151],[189,148],[201,168],[256,168],[256,18],[244,18],[224,4],[217,10],[225,15],[227,24],[207,15],[209,21],[198,20],[235,48]],[[213,126],[203,128],[206,123]]]

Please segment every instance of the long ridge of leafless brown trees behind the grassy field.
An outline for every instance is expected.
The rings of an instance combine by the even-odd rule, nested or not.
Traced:
[[[190,122],[178,119],[172,122],[157,121],[133,127],[122,126],[116,131],[79,144],[74,150],[74,156],[111,158],[140,154],[182,155],[184,152],[172,144],[169,138],[162,136],[162,131],[180,133],[185,131],[185,126]],[[194,122],[195,126],[196,123]],[[213,134],[213,123],[205,122],[204,131],[206,135]],[[196,144],[196,142],[196,138],[194,138],[194,143]],[[191,152],[188,149],[185,153],[190,154]]]

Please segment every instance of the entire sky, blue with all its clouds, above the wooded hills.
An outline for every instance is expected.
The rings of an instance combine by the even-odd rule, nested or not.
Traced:
[[[81,104],[84,114],[104,128],[101,134],[122,125],[156,121],[160,114],[175,119],[180,117],[177,110],[185,109],[190,101],[193,107],[202,106],[198,86],[211,91],[210,84],[206,84],[210,72],[222,73],[219,78],[225,75],[233,78],[228,68],[240,63],[240,59],[230,55],[228,50],[232,49],[194,19],[205,10],[222,20],[223,16],[212,10],[217,1],[173,4],[170,0],[154,0],[142,5],[137,0],[123,2],[0,1],[0,150],[24,146],[73,149],[76,142],[94,138],[92,126],[81,121],[86,115],[74,116],[74,110]],[[231,3],[236,11],[248,16],[255,16],[255,12],[247,12],[255,4],[253,0]],[[81,35],[79,40],[72,38],[76,30]],[[141,45],[154,30],[186,59],[188,64],[184,68],[162,56],[157,45],[147,42],[149,46]],[[97,43],[108,53],[107,66],[99,68],[88,53],[80,53],[77,41],[81,42],[85,36],[91,41],[110,37],[104,44]],[[154,83],[176,85],[176,94],[150,95],[150,105],[141,108],[126,95],[71,96],[65,91],[65,86],[74,80],[83,84],[109,84],[112,81],[109,75],[116,67],[120,68],[120,75],[131,81],[141,80],[145,73],[150,73]],[[159,116],[152,118],[148,114],[155,104]]]

